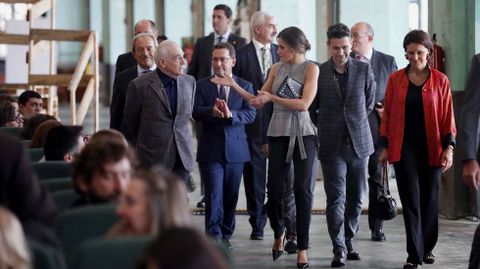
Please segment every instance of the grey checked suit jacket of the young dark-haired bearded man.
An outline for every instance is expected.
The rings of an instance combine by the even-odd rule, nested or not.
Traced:
[[[372,134],[368,115],[375,100],[375,80],[369,64],[349,58],[348,81],[345,97],[334,79],[333,60],[320,65],[318,91],[314,100],[316,108],[319,158],[328,159],[339,154],[346,143],[346,128],[353,149],[359,158],[373,153]]]

